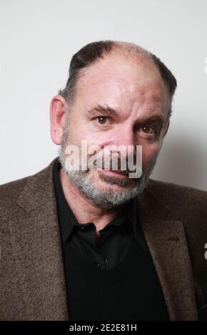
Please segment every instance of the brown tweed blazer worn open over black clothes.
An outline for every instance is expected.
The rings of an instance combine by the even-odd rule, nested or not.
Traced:
[[[69,319],[53,165],[0,186],[1,320]],[[207,320],[207,192],[150,180],[137,200],[170,319]]]

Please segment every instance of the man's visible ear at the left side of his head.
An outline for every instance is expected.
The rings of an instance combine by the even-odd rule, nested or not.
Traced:
[[[51,139],[57,145],[61,144],[66,117],[66,100],[62,96],[54,96],[50,103]]]

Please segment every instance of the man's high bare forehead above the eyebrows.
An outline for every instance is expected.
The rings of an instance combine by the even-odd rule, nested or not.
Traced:
[[[137,55],[111,53],[81,73],[77,98],[86,103],[108,103],[120,108],[134,103],[169,103],[169,94],[158,68],[151,60]]]

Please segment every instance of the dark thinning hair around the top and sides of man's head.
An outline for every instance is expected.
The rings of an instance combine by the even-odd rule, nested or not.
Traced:
[[[89,44],[86,44],[78,52],[74,54],[71,58],[71,63],[69,67],[69,78],[66,82],[64,89],[59,90],[59,95],[63,96],[66,99],[68,105],[71,105],[74,101],[76,83],[81,75],[81,71],[91,66],[99,58],[104,58],[108,53],[110,53],[113,48],[124,48],[128,51],[135,51],[144,58],[151,59],[153,63],[158,68],[161,78],[166,85],[168,93],[171,96],[171,102],[173,95],[176,91],[177,81],[173,76],[171,71],[166,67],[166,65],[153,53],[147,51],[141,46],[137,46],[134,43],[120,42],[120,41],[96,41]],[[168,111],[168,117],[171,116],[171,107]]]

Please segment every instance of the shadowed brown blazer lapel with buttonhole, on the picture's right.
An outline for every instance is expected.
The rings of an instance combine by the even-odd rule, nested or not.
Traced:
[[[197,320],[191,261],[181,221],[148,188],[138,196],[138,217],[171,320]]]

